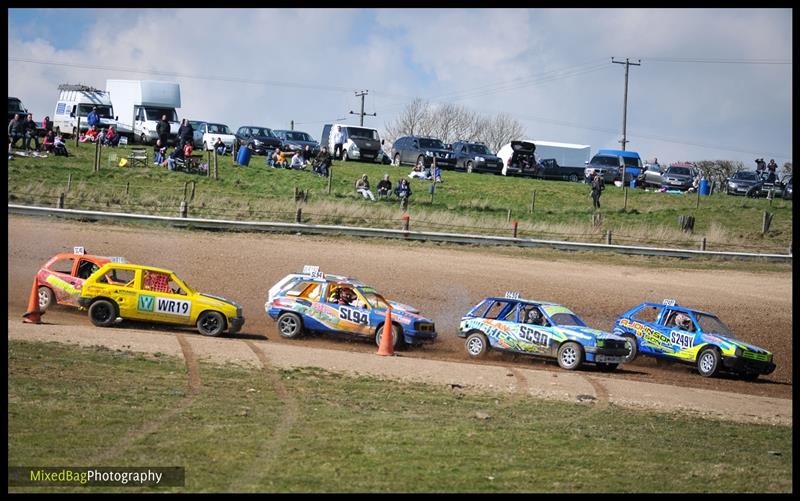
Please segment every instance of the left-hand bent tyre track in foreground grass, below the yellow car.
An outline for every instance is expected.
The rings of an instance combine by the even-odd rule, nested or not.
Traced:
[[[138,442],[139,440],[145,438],[148,435],[151,435],[157,432],[161,426],[165,423],[171,421],[175,416],[183,412],[186,408],[188,408],[194,402],[195,398],[200,394],[200,389],[203,386],[203,382],[200,379],[200,368],[197,363],[197,358],[194,356],[192,351],[192,347],[189,344],[189,341],[184,337],[183,334],[177,333],[175,338],[178,341],[178,344],[181,347],[181,352],[183,353],[183,360],[186,364],[186,373],[187,373],[187,393],[186,396],[181,399],[180,402],[170,410],[162,413],[155,419],[151,419],[147,421],[144,425],[136,430],[129,431],[122,439],[117,442],[114,446],[110,449],[107,449],[104,453],[95,456],[91,460],[89,460],[88,464],[103,464],[105,461],[112,460],[114,458],[122,457],[125,451],[128,450],[128,447],[133,445],[134,443]]]

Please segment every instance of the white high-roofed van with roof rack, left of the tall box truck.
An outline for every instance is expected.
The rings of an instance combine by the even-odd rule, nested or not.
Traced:
[[[100,129],[107,129],[110,125],[117,126],[108,92],[88,85],[61,84],[58,86],[58,101],[53,112],[53,127],[61,129],[65,135],[78,135],[89,128],[86,116],[92,108],[97,108]]]

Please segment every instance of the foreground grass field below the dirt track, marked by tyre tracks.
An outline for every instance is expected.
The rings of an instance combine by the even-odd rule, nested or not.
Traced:
[[[184,466],[174,491],[791,492],[792,428],[9,341],[10,466]],[[9,488],[113,492],[152,488]]]

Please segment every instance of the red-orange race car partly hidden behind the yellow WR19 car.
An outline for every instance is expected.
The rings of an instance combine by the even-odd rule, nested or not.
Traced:
[[[75,247],[73,252],[62,252],[48,259],[36,272],[39,310],[45,311],[56,303],[77,307],[83,282],[112,261],[124,262],[125,259],[86,254],[83,247]]]

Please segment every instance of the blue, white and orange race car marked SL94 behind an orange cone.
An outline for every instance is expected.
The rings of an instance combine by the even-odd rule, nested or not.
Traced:
[[[335,332],[375,339],[378,346],[389,307],[395,347],[436,339],[433,320],[419,315],[419,310],[389,301],[356,279],[320,273],[318,267],[306,266],[303,273],[281,279],[269,290],[264,304],[285,338],[295,338],[304,330]]]

